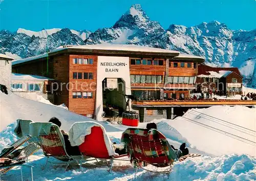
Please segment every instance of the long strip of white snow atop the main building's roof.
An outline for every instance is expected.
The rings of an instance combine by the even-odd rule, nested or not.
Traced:
[[[65,46],[64,46],[65,47]],[[72,49],[95,49],[95,50],[119,50],[119,51],[134,51],[134,52],[154,52],[154,53],[179,53],[178,51],[158,49],[152,47],[141,47],[129,44],[94,44],[86,46],[69,46]]]

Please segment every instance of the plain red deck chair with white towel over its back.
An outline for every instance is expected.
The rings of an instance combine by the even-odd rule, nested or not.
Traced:
[[[78,146],[84,157],[93,157],[96,160],[111,160],[110,172],[112,171],[114,160],[127,156],[127,154],[118,155],[115,153],[105,128],[93,121],[74,123],[69,131],[69,137],[71,145]],[[109,165],[107,164],[107,166]]]

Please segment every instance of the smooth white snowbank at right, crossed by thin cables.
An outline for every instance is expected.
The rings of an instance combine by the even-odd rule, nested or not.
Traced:
[[[255,156],[255,113],[256,108],[244,106],[192,108],[182,117],[164,122],[178,130],[192,147],[207,153]]]

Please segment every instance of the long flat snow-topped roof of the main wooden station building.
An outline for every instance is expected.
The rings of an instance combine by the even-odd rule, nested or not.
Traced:
[[[169,58],[180,60],[196,60],[203,62],[204,58],[194,55],[180,54],[178,51],[165,50],[151,47],[141,47],[128,44],[95,44],[84,46],[60,46],[57,49],[42,55],[28,57],[13,61],[12,65],[29,63],[33,60],[46,58],[57,54],[77,54],[77,55],[96,55],[96,56],[124,56],[130,58]]]

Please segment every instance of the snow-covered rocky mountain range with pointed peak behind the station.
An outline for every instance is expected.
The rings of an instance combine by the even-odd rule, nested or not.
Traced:
[[[204,56],[211,66],[237,66],[247,86],[256,87],[256,29],[230,30],[218,21],[194,27],[170,25],[167,30],[152,21],[140,5],[133,5],[110,28],[50,29],[33,32],[0,31],[0,53],[25,58],[64,44],[137,44]]]

